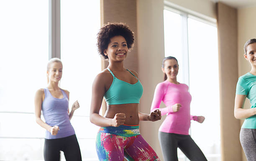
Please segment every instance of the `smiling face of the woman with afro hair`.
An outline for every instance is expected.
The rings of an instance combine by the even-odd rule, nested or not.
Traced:
[[[109,61],[123,61],[128,54],[128,47],[123,36],[114,36],[110,38],[108,49],[104,50]]]

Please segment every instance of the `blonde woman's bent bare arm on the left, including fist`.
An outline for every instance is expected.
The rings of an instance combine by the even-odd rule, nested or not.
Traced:
[[[45,123],[41,119],[41,110],[42,110],[42,102],[44,99],[44,89],[38,89],[35,95],[35,115],[36,115],[36,123],[38,123],[41,127],[45,128],[47,131],[51,133],[51,135],[56,135],[58,133],[59,127],[57,126],[50,126]]]

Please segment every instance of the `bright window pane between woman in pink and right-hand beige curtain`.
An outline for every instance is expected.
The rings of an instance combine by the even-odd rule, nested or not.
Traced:
[[[188,37],[189,88],[192,95],[191,115],[205,116],[205,122],[202,124],[192,121],[191,136],[208,161],[219,161],[220,110],[217,28],[188,18]]]

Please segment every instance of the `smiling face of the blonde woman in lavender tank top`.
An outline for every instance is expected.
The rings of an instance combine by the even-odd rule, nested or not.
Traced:
[[[47,77],[50,82],[59,82],[62,77],[62,64],[60,62],[53,62],[49,65]]]

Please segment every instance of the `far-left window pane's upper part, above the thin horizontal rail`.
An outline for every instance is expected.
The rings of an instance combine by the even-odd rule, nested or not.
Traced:
[[[49,1],[0,1],[0,111],[34,111],[49,60]]]

